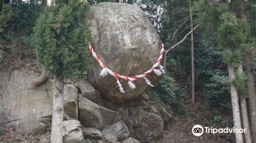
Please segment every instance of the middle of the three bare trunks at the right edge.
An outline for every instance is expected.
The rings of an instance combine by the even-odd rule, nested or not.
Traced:
[[[243,74],[243,65],[242,63],[238,64],[238,72],[239,74]],[[247,108],[246,108],[246,100],[245,100],[245,95],[239,95],[240,96],[240,104],[241,104],[241,113],[242,113],[242,118],[243,118],[243,127],[245,130],[245,142],[246,143],[251,143],[251,135],[250,135],[250,127],[249,127],[249,122],[248,122],[248,114],[247,114]]]

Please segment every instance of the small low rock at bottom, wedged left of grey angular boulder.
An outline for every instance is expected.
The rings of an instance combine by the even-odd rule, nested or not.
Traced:
[[[102,133],[95,128],[82,128],[83,137],[90,140],[102,140]]]

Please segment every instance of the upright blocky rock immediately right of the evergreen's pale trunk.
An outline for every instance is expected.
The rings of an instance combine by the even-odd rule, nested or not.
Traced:
[[[74,85],[64,85],[63,106],[67,120],[78,120],[77,88]]]

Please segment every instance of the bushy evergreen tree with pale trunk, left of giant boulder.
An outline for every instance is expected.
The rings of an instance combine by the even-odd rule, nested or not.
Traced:
[[[34,28],[38,62],[54,77],[51,135],[54,143],[62,142],[64,77],[83,78],[89,67],[88,10],[85,1],[59,1],[40,15]]]

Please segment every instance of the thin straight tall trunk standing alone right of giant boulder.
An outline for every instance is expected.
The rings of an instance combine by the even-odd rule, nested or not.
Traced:
[[[193,30],[193,18],[192,18],[192,9],[191,1],[189,3],[189,15],[190,15],[190,28]],[[195,66],[194,66],[194,34],[191,33],[191,105],[195,104]]]

